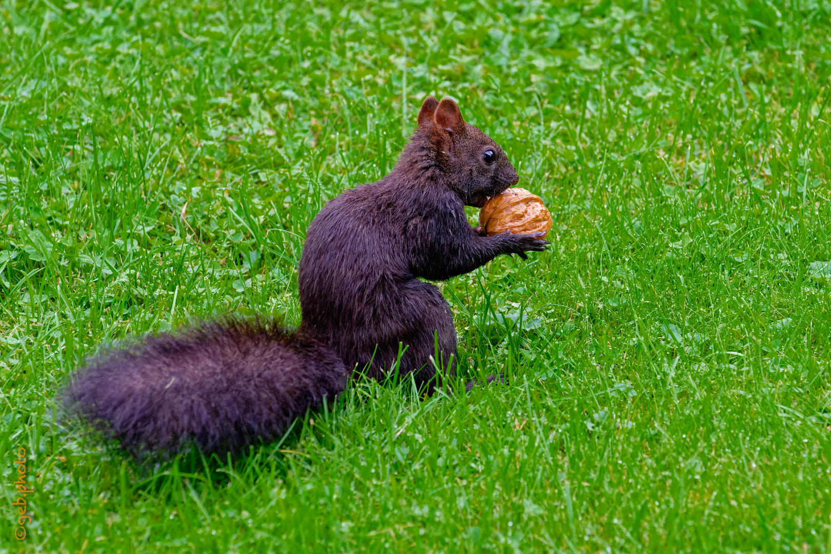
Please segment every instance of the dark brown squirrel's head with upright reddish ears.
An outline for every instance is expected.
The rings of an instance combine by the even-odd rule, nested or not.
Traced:
[[[469,206],[481,208],[489,197],[519,180],[504,150],[465,122],[459,106],[450,98],[425,98],[414,138],[429,145],[430,155],[435,155],[435,163],[449,178],[446,182]]]

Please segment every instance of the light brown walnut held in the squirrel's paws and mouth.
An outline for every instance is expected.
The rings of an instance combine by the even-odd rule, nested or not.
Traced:
[[[548,233],[553,223],[543,199],[525,189],[506,189],[489,199],[479,210],[479,227],[489,237],[505,231],[514,234]]]

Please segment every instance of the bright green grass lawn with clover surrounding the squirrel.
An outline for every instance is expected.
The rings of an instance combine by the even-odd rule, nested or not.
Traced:
[[[2,0],[0,550],[831,552],[831,5],[558,4]],[[442,285],[508,386],[155,466],[56,422],[102,343],[297,323],[307,224],[428,94],[553,213]]]

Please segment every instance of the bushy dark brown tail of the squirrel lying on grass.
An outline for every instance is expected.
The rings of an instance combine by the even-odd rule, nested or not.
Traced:
[[[228,318],[106,351],[71,375],[66,409],[134,453],[193,442],[231,451],[281,436],[347,385],[343,361],[302,331]]]

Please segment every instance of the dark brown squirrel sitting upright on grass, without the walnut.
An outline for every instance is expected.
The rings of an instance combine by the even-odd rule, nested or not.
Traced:
[[[541,251],[543,233],[479,234],[481,208],[518,181],[499,145],[430,96],[392,173],[344,191],[309,225],[298,288],[302,323],[226,317],[105,351],[71,375],[63,403],[136,454],[237,450],[282,435],[345,390],[353,370],[395,367],[427,387],[435,337],[450,372],[456,334],[438,287],[499,254]]]

